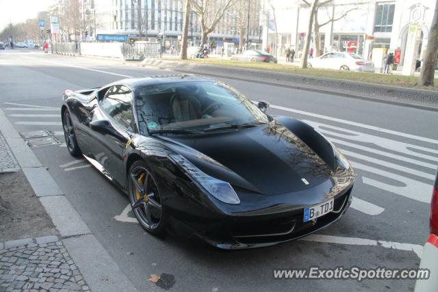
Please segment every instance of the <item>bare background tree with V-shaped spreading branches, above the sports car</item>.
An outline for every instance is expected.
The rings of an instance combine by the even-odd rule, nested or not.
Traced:
[[[207,43],[207,37],[214,31],[224,13],[235,0],[192,0],[192,10],[201,23],[201,46]]]

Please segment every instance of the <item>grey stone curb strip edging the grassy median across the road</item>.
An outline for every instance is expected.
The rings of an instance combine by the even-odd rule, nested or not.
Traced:
[[[124,62],[124,64],[128,63]],[[233,68],[229,66],[197,63],[187,64],[185,62],[162,59],[144,59],[141,64],[128,65],[147,66],[148,68],[172,70],[183,73],[196,73],[211,77],[225,77],[240,81],[281,86],[283,88],[320,92],[324,94],[337,94],[349,98],[359,98],[380,103],[438,111],[438,103],[436,102],[438,101],[438,92],[429,90],[258,69]],[[266,76],[261,77],[260,75]],[[272,81],[270,81],[270,79],[272,79]],[[312,83],[318,85],[313,85]],[[348,88],[348,90],[340,89],[339,87],[335,88],[333,84],[343,85],[343,88]],[[370,94],[363,94],[366,90],[371,90]]]

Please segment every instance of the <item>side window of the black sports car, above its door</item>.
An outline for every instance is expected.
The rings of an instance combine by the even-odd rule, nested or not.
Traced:
[[[131,90],[123,85],[110,88],[101,101],[105,113],[125,130],[132,131]]]

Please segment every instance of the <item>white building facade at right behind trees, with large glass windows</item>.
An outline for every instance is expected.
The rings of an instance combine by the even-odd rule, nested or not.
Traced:
[[[310,8],[299,0],[271,3],[272,7],[266,0],[261,4],[263,48],[274,48],[276,39],[278,55],[284,55],[286,47],[293,47],[300,55]],[[422,59],[434,10],[435,0],[335,0],[318,9],[320,53],[348,51],[371,59],[374,48],[385,48],[400,51],[402,66],[409,27],[415,25],[421,32],[414,58]],[[313,41],[311,47],[316,49]]]

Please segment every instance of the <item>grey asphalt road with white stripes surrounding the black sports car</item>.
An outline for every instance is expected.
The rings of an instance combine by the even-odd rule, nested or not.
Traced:
[[[270,114],[318,127],[358,173],[352,207],[318,235],[224,252],[196,239],[163,241],[145,233],[127,213],[127,198],[62,144],[63,90],[168,74],[102,59],[0,51],[0,108],[19,132],[53,131],[60,140],[32,150],[140,291],[161,291],[148,279],[162,273],[175,276],[175,291],[413,291],[413,280],[279,280],[273,269],[417,267],[438,165],[436,111],[222,79],[253,100],[269,101]]]

